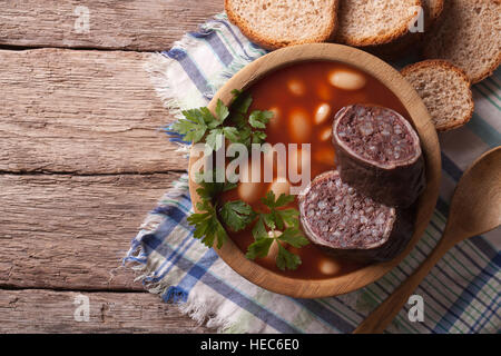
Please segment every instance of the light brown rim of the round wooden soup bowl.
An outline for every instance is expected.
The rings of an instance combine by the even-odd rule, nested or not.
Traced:
[[[439,197],[441,176],[440,146],[436,131],[421,98],[407,81],[391,66],[372,55],[352,47],[315,43],[276,50],[255,60],[237,72],[216,93],[208,107],[214,112],[217,99],[222,99],[225,103],[228,103],[233,97],[230,93],[233,89],[245,90],[257,79],[275,69],[302,61],[317,60],[332,60],[358,68],[379,79],[399,98],[407,110],[421,139],[426,161],[426,189],[418,201],[415,230],[406,249],[391,261],[369,265],[346,275],[325,279],[285,277],[245,258],[244,254],[230,239],[220,249],[214,247],[216,253],[229,267],[249,281],[265,289],[298,298],[336,296],[360,289],[377,280],[402,261],[415,246],[431,219]],[[191,155],[189,167],[191,167],[195,160]],[[196,204],[199,201],[196,189],[197,185],[190,180],[189,191],[195,210]]]

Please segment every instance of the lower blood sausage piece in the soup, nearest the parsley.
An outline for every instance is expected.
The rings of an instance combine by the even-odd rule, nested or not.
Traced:
[[[411,210],[387,207],[358,194],[336,170],[317,176],[298,199],[306,236],[334,256],[385,261],[399,255],[412,236]]]

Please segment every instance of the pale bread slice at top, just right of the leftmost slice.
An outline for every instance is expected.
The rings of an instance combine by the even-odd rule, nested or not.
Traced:
[[[389,43],[409,32],[420,0],[343,0],[335,40],[355,47]]]

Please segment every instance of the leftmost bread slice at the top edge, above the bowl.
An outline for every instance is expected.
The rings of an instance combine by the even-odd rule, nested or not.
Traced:
[[[337,0],[225,0],[228,19],[266,49],[324,42],[337,24]]]

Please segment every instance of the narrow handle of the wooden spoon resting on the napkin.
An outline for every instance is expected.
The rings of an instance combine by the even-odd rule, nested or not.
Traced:
[[[445,234],[440,243],[430,254],[430,256],[414,270],[414,273],[404,280],[380,306],[374,309],[366,318],[358,325],[353,334],[381,334],[386,326],[399,314],[409,297],[418,288],[424,277],[436,263],[445,255],[452,247],[445,244],[448,240]]]

